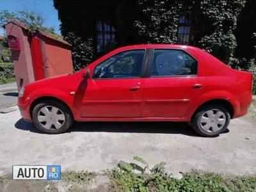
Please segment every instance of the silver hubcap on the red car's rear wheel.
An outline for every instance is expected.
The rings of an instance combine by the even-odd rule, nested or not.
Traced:
[[[218,132],[226,123],[226,115],[219,109],[205,111],[200,118],[200,126],[206,132]]]

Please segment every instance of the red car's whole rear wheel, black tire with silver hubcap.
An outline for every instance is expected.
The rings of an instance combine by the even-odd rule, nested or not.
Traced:
[[[219,136],[227,130],[229,122],[230,112],[220,104],[209,104],[198,109],[191,119],[193,129],[205,137]]]

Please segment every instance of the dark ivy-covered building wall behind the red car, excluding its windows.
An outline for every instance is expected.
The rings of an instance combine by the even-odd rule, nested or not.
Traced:
[[[61,20],[62,35],[74,45],[77,69],[100,56],[96,52],[97,20],[109,21],[116,27],[116,47],[145,43],[175,44],[179,16],[186,11],[193,16],[192,45],[210,52],[232,67],[240,65],[241,58],[249,61],[255,56],[252,51],[250,56],[241,51],[252,38],[250,34],[256,32],[253,31],[254,24],[246,24],[243,20],[244,17],[256,18],[256,6],[251,2],[164,0],[73,3],[54,0],[54,6]],[[247,10],[250,10],[249,16],[239,17],[240,13],[248,14]],[[251,26],[251,32],[244,33],[244,25],[248,29]],[[244,35],[246,38],[241,37]],[[255,42],[248,46],[248,50],[254,50]],[[245,69],[250,67],[248,62],[245,65],[242,65]]]

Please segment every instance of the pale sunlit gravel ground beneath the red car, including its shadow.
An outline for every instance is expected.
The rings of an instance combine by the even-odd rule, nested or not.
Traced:
[[[143,157],[150,166],[166,162],[173,175],[191,169],[256,175],[256,123],[231,120],[217,138],[202,138],[186,123],[75,123],[70,132],[42,134],[19,111],[0,114],[0,175],[13,164],[60,164],[61,170],[100,172],[118,161]]]

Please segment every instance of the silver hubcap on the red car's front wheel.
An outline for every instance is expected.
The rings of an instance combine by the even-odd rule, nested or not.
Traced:
[[[44,106],[38,111],[38,122],[45,129],[60,129],[65,123],[65,115],[61,109],[54,106]]]

